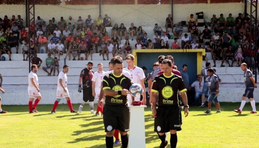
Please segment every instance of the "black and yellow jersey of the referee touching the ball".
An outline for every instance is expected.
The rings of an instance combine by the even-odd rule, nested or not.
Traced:
[[[129,77],[121,74],[120,76],[115,76],[113,73],[104,76],[103,78],[103,90],[130,90],[132,82]],[[117,96],[105,96],[106,105],[127,105],[127,96],[117,95]]]

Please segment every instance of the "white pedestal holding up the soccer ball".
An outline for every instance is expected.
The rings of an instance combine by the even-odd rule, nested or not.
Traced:
[[[129,148],[146,148],[144,107],[130,105]]]

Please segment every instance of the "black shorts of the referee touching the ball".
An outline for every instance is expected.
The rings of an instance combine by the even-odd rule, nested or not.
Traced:
[[[130,111],[127,106],[104,105],[103,123],[105,132],[118,129],[128,132],[130,129]]]

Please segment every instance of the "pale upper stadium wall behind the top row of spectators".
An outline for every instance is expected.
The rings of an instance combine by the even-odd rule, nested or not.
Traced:
[[[250,6],[250,3],[248,3]],[[174,9],[174,23],[179,21],[187,21],[190,14],[197,12],[204,12],[204,19],[210,22],[212,14],[216,14],[216,17],[220,17],[220,14],[224,14],[224,18],[228,17],[229,13],[232,13],[232,17],[236,18],[238,13],[244,12],[244,3],[219,3],[219,4],[175,4]],[[250,8],[249,8],[250,9]],[[248,12],[250,10],[248,9]],[[11,19],[11,15],[21,15],[25,21],[25,5],[0,5],[0,12],[3,15],[8,15]],[[115,23],[124,23],[124,26],[129,27],[130,23],[134,22],[135,26],[154,26],[158,23],[159,26],[165,27],[165,19],[168,14],[171,14],[171,5],[102,5],[101,15],[108,14],[111,17],[112,25]],[[40,16],[48,24],[48,20],[55,17],[59,20],[61,16],[64,19],[68,19],[68,16],[77,21],[81,16],[83,20],[87,18],[87,15],[91,15],[92,19],[96,19],[99,16],[98,5],[35,5],[35,16]],[[196,15],[194,16],[197,17]],[[25,23],[24,23],[25,24]]]

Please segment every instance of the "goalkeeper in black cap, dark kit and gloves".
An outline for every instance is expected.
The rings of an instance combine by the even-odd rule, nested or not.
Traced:
[[[84,104],[89,100],[91,113],[95,114],[93,111],[94,97],[92,96],[92,76],[94,73],[92,70],[92,66],[93,66],[93,63],[88,62],[87,67],[84,68],[80,73],[78,92],[82,92],[82,88],[83,88],[83,101],[79,106],[79,109],[78,109],[79,113],[82,112]],[[81,82],[83,83],[83,86],[81,86]]]

